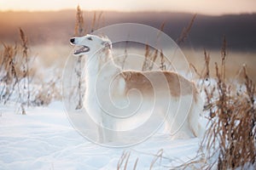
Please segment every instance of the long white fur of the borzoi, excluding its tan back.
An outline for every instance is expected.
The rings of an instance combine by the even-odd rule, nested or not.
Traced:
[[[202,110],[200,94],[173,96],[172,93],[161,91],[162,88],[157,87],[159,83],[157,81],[155,83],[154,80],[152,81],[154,90],[158,90],[154,95],[140,94],[136,89],[131,89],[127,93],[125,87],[129,78],[125,79],[122,75],[124,71],[114,64],[111,42],[108,38],[86,35],[72,38],[71,43],[89,48],[89,51],[79,53],[86,55],[84,107],[93,120],[99,124],[99,142],[114,140],[117,138],[114,133],[116,131],[132,130],[142,125],[153,115],[152,111],[163,112],[164,116],[167,111],[166,130],[173,136],[177,134],[193,137],[203,133],[199,122]],[[147,74],[150,76],[151,73]],[[172,86],[172,84],[169,85]],[[169,104],[168,107],[163,106],[166,104]],[[134,119],[133,113],[141,119]]]

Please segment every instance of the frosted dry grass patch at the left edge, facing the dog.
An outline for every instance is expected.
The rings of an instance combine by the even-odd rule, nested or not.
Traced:
[[[52,99],[60,99],[61,94],[55,86],[59,81],[55,77],[50,80],[51,83],[40,80],[38,88],[35,82],[39,69],[33,63],[35,58],[29,54],[25,32],[21,28],[19,31],[20,44],[3,43],[3,51],[0,52],[0,102],[3,105],[15,102],[21,114],[25,115],[25,106],[48,105]]]

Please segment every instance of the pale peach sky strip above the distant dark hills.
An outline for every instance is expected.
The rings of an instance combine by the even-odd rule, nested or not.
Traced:
[[[256,0],[0,0],[0,10],[171,11],[197,14],[256,13]]]

